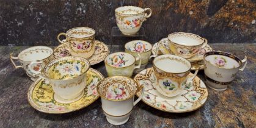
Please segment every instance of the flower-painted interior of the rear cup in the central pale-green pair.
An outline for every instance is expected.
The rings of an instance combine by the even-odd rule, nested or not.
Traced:
[[[152,49],[152,44],[143,40],[134,40],[126,43],[125,49],[131,52],[147,52]]]

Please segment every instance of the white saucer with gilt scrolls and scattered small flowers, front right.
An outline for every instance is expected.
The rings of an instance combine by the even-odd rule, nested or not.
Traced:
[[[192,76],[192,74],[189,74]],[[184,113],[197,110],[207,101],[208,91],[199,77],[195,77],[178,96],[167,98],[158,93],[155,86],[155,75],[153,68],[147,68],[134,77],[139,85],[144,85],[145,93],[142,101],[158,110],[171,113]],[[141,91],[137,93],[141,96]]]

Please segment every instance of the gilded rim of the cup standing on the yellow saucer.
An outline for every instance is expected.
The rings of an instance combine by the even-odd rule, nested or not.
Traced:
[[[53,65],[51,65],[51,66],[49,66],[50,64],[52,64],[52,63],[54,63],[54,62],[56,62],[56,61],[58,61],[58,60],[60,60],[60,62],[62,62],[62,61],[64,61],[64,60],[72,60],[72,62],[73,61],[75,61],[75,60],[77,60],[77,59],[80,59],[80,60],[82,60],[84,63],[86,63],[86,65],[88,64],[88,66],[86,67],[86,70],[84,71],[84,73],[81,73],[81,74],[79,74],[78,76],[76,76],[76,77],[71,77],[71,78],[67,78],[67,79],[55,79],[55,78],[52,78],[52,77],[49,77],[48,76],[48,73],[47,73],[47,71],[49,70],[49,68],[51,68],[51,66],[53,66]],[[74,59],[74,60],[73,60]],[[58,63],[58,62],[57,62]],[[49,68],[48,68],[49,67]],[[48,68],[48,70],[46,71],[46,68]],[[45,75],[45,76],[47,76],[49,79],[53,79],[53,80],[71,80],[71,79],[75,79],[75,78],[78,78],[78,77],[80,77],[80,76],[83,76],[84,74],[86,74],[87,73],[87,71],[90,69],[90,62],[89,62],[89,60],[87,60],[87,59],[84,59],[83,57],[73,57],[73,56],[68,56],[68,57],[60,57],[59,59],[54,59],[54,60],[52,60],[51,62],[49,62],[47,65],[45,65],[45,68],[43,68],[43,71],[42,71],[42,73]]]

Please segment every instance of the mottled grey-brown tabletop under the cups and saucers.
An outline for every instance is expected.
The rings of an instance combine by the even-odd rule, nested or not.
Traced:
[[[24,46],[0,46],[0,127],[255,127],[256,123],[256,44],[211,44],[215,50],[232,52],[248,63],[244,71],[226,91],[208,89],[208,99],[194,112],[166,113],[139,102],[130,119],[122,126],[106,121],[98,99],[89,107],[62,115],[38,112],[27,102],[27,90],[32,84],[23,69],[14,69],[10,52],[18,53]],[[111,52],[123,51],[112,46]],[[150,67],[151,65],[147,65]],[[104,63],[92,68],[106,76]],[[199,77],[202,80],[203,71]]]

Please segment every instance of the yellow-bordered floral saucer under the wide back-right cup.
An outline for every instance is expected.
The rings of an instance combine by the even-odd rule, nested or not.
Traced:
[[[155,46],[155,44],[154,44]],[[155,50],[156,51],[156,46],[158,46],[159,51],[162,52],[162,54],[172,54],[172,52],[170,51],[169,48],[169,40],[168,38],[163,38],[162,40],[160,40],[158,42],[158,44],[156,44],[156,46],[152,49],[152,52]],[[155,48],[155,49],[154,49]],[[203,55],[205,55],[206,52],[210,52],[213,51],[213,48],[211,48],[210,45],[207,44],[207,46],[205,46],[205,48],[201,49],[201,51],[199,51],[199,53],[197,55],[195,55],[194,57],[187,59],[189,62],[198,62],[200,60],[203,60]],[[153,55],[155,55],[153,53]]]

